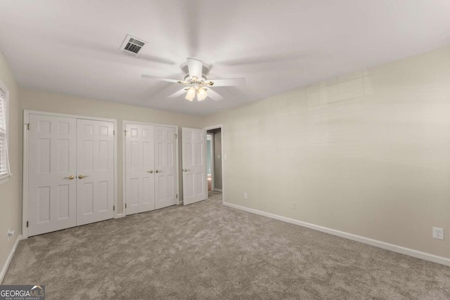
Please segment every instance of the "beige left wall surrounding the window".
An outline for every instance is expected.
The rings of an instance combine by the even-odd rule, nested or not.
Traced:
[[[9,162],[13,176],[0,184],[0,270],[22,231],[22,114],[19,89],[13,73],[0,53],[0,80],[9,91]],[[8,229],[15,236],[8,241]]]

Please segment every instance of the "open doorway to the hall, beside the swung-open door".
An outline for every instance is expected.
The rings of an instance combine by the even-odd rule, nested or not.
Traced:
[[[221,128],[207,130],[207,186],[208,192],[222,191]]]

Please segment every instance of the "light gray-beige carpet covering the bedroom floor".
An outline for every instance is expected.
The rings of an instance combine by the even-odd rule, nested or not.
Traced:
[[[23,240],[3,284],[45,284],[46,299],[450,299],[449,267],[212,196]]]

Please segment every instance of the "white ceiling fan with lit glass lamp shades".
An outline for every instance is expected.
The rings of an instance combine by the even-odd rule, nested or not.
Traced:
[[[207,79],[205,75],[210,72],[210,66],[203,63],[201,60],[188,58],[186,63],[181,64],[181,70],[186,74],[183,80],[155,77],[146,74],[141,76],[144,78],[158,79],[161,81],[169,81],[177,84],[184,84],[185,87],[172,95],[169,98],[176,98],[186,93],[186,99],[192,101],[195,96],[199,101],[205,100],[206,97],[212,98],[214,101],[219,101],[224,97],[211,89],[211,86],[237,86],[245,84],[245,78],[233,79]]]

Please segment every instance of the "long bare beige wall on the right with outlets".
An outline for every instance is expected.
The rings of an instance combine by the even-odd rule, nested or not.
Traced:
[[[203,119],[214,124],[226,202],[449,258],[450,47]]]

